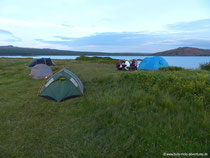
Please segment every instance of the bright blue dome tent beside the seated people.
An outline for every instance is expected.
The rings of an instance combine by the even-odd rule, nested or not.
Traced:
[[[160,67],[167,67],[168,63],[159,56],[147,57],[139,65],[139,70],[158,70]]]

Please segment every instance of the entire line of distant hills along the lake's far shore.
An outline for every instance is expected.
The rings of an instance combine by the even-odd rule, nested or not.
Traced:
[[[0,46],[0,56],[41,56],[41,55],[65,55],[65,56],[210,56],[209,49],[199,49],[192,47],[180,47],[158,53],[108,53],[108,52],[86,52],[68,51],[57,49],[37,49],[21,48],[10,46]]]

